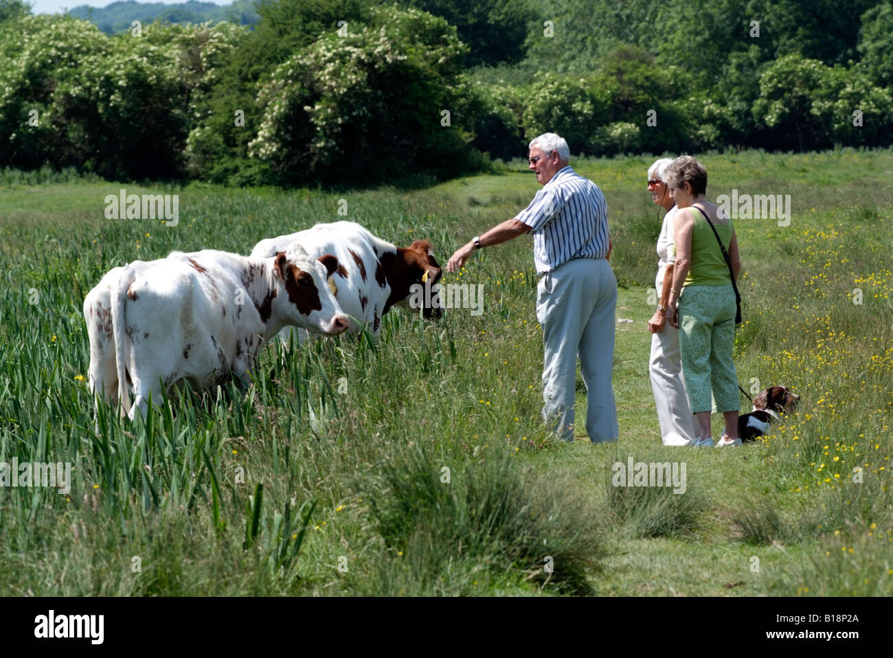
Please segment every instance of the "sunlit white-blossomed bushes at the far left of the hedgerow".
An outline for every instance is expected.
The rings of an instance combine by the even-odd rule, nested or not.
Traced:
[[[155,23],[107,37],[87,21],[0,24],[0,159],[105,177],[180,177],[196,103],[244,29]]]

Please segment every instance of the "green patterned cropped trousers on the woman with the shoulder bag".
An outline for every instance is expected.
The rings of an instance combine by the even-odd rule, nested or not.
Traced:
[[[679,346],[691,413],[739,411],[735,346],[735,292],[728,285],[688,285],[679,300]]]

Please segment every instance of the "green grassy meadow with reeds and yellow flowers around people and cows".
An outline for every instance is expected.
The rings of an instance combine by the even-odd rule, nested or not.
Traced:
[[[73,465],[68,495],[0,487],[0,594],[893,593],[893,151],[703,157],[711,199],[736,188],[790,194],[792,207],[789,226],[735,222],[736,365],[746,389],[787,384],[802,402],[764,440],[724,450],[661,445],[647,374],[651,161],[572,161],[605,192],[617,317],[632,320],[614,352],[620,441],[599,446],[539,425],[529,237],[445,278],[484,284],[480,316],[396,310],[378,345],[271,346],[245,394],[171,399],[145,423],[105,410],[94,432],[81,304],[111,267],[247,253],[343,218],[395,243],[430,238],[445,262],[536,193],[519,162],[410,192],[0,172],[0,462]],[[179,193],[179,226],[105,219],[121,187]],[[582,382],[578,394],[580,418]],[[685,493],[612,487],[628,456],[684,462]]]

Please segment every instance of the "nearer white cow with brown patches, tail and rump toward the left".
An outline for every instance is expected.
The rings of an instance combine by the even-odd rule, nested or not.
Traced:
[[[149,393],[160,405],[179,380],[201,391],[244,377],[283,326],[344,332],[348,320],[328,284],[337,268],[335,256],[314,259],[298,244],[269,258],[174,251],[115,267],[84,300],[96,404],[120,399],[131,419],[137,409],[145,416]]]

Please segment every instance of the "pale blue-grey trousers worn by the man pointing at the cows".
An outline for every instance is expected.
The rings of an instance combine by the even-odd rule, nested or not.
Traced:
[[[593,443],[615,441],[614,308],[617,279],[605,259],[573,259],[539,280],[537,319],[546,348],[543,421],[573,440],[577,359],[587,391],[586,432]]]

